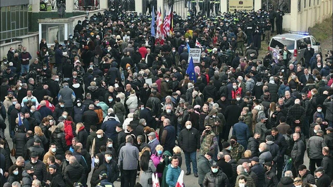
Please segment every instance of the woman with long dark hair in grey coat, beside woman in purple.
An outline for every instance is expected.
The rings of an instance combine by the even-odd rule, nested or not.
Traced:
[[[160,160],[159,160],[160,162]],[[156,172],[156,166],[153,163],[150,152],[148,150],[144,151],[140,159],[140,183],[143,187],[152,187],[152,174]]]

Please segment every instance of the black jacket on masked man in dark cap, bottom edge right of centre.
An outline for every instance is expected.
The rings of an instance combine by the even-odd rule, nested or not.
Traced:
[[[207,173],[202,182],[203,187],[229,186],[229,180],[225,173],[219,169],[217,173],[210,171]]]

